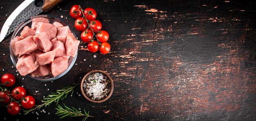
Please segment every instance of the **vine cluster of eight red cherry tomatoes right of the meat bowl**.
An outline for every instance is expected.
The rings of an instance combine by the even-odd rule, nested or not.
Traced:
[[[74,5],[70,9],[70,15],[76,19],[76,29],[83,31],[81,40],[88,43],[90,52],[100,51],[102,54],[107,54],[110,51],[110,44],[107,42],[108,32],[101,30],[102,24],[99,20],[95,20],[97,12],[94,9],[86,8],[83,10],[80,5]]]

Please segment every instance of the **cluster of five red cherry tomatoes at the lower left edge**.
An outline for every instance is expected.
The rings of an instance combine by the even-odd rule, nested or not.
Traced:
[[[1,83],[4,86],[13,86],[15,82],[16,79],[12,74],[7,73],[1,77]],[[18,101],[16,100],[21,100],[21,106],[25,109],[32,108],[36,103],[34,97],[29,95],[26,96],[26,90],[21,86],[14,88],[11,93],[7,90],[2,90],[0,92],[0,103],[7,104],[7,111],[9,114],[16,115],[20,112],[20,104],[17,103]]]

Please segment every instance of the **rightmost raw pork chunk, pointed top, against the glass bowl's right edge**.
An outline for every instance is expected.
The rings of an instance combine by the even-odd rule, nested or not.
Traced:
[[[75,57],[79,43],[80,43],[80,41],[76,40],[73,33],[67,33],[67,39],[66,39],[66,44],[65,44],[66,55]]]

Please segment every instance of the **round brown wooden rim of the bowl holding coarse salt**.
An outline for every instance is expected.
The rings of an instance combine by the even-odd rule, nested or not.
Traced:
[[[85,90],[84,90],[84,87],[83,87],[83,83],[84,83],[85,79],[86,79],[89,75],[91,75],[92,73],[102,73],[103,75],[106,75],[106,76],[108,77],[108,79],[110,80],[111,89],[110,89],[110,92],[109,92],[109,94],[108,94],[108,96],[107,96],[106,98],[101,99],[101,100],[92,100],[92,99],[90,99],[89,97],[87,97],[87,96],[85,95]],[[102,103],[102,102],[108,100],[108,99],[110,98],[110,96],[112,95],[113,90],[114,90],[114,83],[113,83],[113,80],[111,79],[111,77],[110,77],[107,73],[105,73],[104,71],[101,71],[101,70],[93,70],[93,71],[90,71],[89,73],[87,73],[87,74],[83,77],[83,79],[82,79],[82,81],[81,81],[81,88],[80,88],[80,89],[81,89],[81,92],[82,92],[82,94],[83,94],[83,97],[85,97],[85,98],[88,99],[89,101],[94,102],[94,103]]]

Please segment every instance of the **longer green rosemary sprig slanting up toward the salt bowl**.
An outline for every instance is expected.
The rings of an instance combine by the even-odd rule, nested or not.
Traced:
[[[78,90],[80,83],[77,83],[77,82],[73,82],[72,86],[67,86],[67,87],[64,87],[64,88],[61,88],[61,90],[56,90],[56,92],[52,93],[51,95],[48,95],[47,97],[45,97],[43,99],[43,104],[41,105],[36,105],[36,107],[34,108],[31,108],[29,110],[23,110],[26,114],[28,114],[29,112],[31,111],[34,111],[34,110],[40,110],[40,108],[42,107],[46,107],[46,106],[50,106],[53,102],[56,103],[56,106],[58,104],[58,101],[61,99],[63,100],[64,98],[67,97],[67,94],[69,94],[71,92],[71,95],[73,94],[74,90]]]

